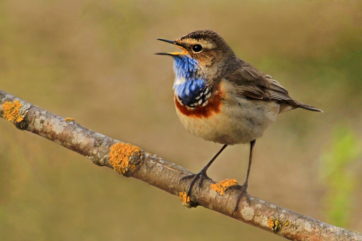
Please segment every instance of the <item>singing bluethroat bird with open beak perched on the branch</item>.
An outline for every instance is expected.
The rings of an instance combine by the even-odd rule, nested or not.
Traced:
[[[322,111],[292,99],[271,76],[237,57],[222,36],[212,30],[196,30],[176,40],[157,40],[182,50],[156,53],[173,57],[174,102],[182,125],[206,141],[224,144],[200,172],[181,179],[192,178],[187,197],[197,180],[199,187],[203,178],[211,180],[206,171],[228,145],[250,143],[245,182],[230,187],[240,190],[235,212],[241,197],[250,203],[247,188],[256,138],[279,113],[295,108]]]

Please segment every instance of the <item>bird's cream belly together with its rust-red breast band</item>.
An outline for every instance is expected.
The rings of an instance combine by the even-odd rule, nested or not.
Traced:
[[[220,101],[218,108],[205,106],[204,112],[199,109],[199,114],[196,115],[192,110],[186,112],[180,108],[177,99],[175,103],[178,118],[191,134],[206,141],[227,145],[248,143],[261,137],[274,123],[279,110],[279,105],[271,102],[245,102],[245,105],[239,103],[230,106]]]

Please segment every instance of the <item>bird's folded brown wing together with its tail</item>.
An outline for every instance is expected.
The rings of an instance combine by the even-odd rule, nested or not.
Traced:
[[[320,111],[307,104],[292,99],[286,89],[271,76],[266,75],[244,60],[240,60],[240,67],[226,79],[237,87],[241,95],[252,99],[274,100],[281,104],[280,112],[295,109],[297,107],[311,111]]]

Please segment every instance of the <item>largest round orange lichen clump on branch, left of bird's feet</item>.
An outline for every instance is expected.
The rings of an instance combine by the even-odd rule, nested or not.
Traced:
[[[113,166],[114,171],[123,175],[136,169],[136,165],[130,163],[131,156],[137,154],[142,158],[142,149],[130,143],[115,143],[109,149],[109,163]]]

